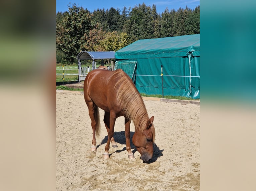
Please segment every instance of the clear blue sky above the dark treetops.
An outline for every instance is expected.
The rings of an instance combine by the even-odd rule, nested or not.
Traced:
[[[117,9],[119,8],[122,12],[122,9],[124,6],[126,8],[133,8],[135,5],[142,4],[143,2],[146,4],[146,6],[152,7],[153,4],[156,5],[156,11],[158,13],[164,12],[165,8],[168,7],[169,11],[174,9],[175,11],[181,7],[185,8],[186,5],[188,8],[191,8],[192,10],[196,8],[196,6],[200,5],[200,0],[128,0],[128,1],[122,1],[122,0],[56,0],[56,12],[65,12],[68,11],[68,5],[71,2],[71,5],[73,3],[76,3],[78,7],[83,7],[84,9],[88,9],[90,12],[93,12],[95,9],[110,9],[111,7]]]

